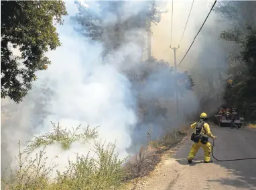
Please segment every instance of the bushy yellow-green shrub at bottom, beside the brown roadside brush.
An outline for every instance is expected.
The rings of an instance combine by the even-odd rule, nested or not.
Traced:
[[[65,187],[66,189],[121,189],[123,168],[125,160],[119,160],[115,154],[115,145],[106,147],[101,143],[95,143],[94,153],[97,159],[80,156],[75,163],[70,163],[64,173],[58,173],[57,183],[54,189]]]

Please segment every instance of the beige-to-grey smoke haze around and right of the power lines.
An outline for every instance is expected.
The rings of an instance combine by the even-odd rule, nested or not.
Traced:
[[[218,5],[218,2],[215,6]],[[178,47],[180,44],[180,48],[176,51],[177,63],[179,64],[202,26],[204,19],[206,19],[213,3],[212,0],[194,1],[181,43],[180,40],[192,1],[174,1],[173,23],[172,2],[168,3],[168,13],[162,15],[161,23],[152,27],[152,55],[155,58],[170,60],[172,64],[174,63],[174,52],[169,48],[172,23],[172,46]],[[180,112],[184,113],[184,118],[193,112],[195,116],[198,112],[214,114],[218,106],[223,103],[222,92],[225,90],[226,84],[224,79],[227,77],[228,56],[232,48],[229,46],[230,44],[220,39],[220,32],[232,28],[233,24],[232,21],[223,20],[221,15],[212,11],[186,58],[178,67],[179,71],[188,70],[195,83],[194,92],[188,93],[184,98],[180,97]],[[216,100],[216,94],[219,96],[218,100]],[[206,105],[202,106],[202,104]],[[176,105],[172,104],[172,106]],[[172,109],[172,111],[175,111],[175,109]],[[172,112],[173,114],[176,113]]]

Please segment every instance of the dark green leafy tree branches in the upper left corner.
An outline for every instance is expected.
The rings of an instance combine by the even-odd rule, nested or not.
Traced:
[[[21,102],[35,72],[48,68],[44,53],[61,45],[56,24],[62,24],[63,15],[63,1],[1,1],[1,98]]]

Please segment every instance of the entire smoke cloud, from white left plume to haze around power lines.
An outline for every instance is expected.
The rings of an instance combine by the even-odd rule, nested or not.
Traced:
[[[129,19],[134,14],[144,11],[144,2],[146,1],[125,3],[123,19]],[[175,45],[180,39],[178,29],[183,29],[185,23],[184,19],[179,21],[178,17],[181,15],[183,18],[186,17],[184,11],[187,12],[190,7],[188,1],[184,2],[186,3],[181,5],[180,1],[174,1],[174,5],[179,4],[174,8]],[[84,6],[92,6],[93,3],[86,2]],[[177,60],[181,60],[192,37],[200,27],[202,15],[206,15],[210,9],[207,3],[200,3],[202,1],[194,5],[193,16],[178,50]],[[17,105],[9,100],[1,101],[2,169],[8,161],[14,165],[13,156],[17,155],[18,139],[24,147],[27,145],[27,140],[31,140],[34,135],[49,132],[52,127],[50,122],[60,122],[61,126],[67,128],[79,124],[82,124],[82,128],[86,128],[88,124],[92,127],[100,126],[99,136],[107,142],[116,143],[117,151],[122,158],[134,153],[131,151],[134,143],[139,145],[145,143],[149,128],[153,128],[152,138],[159,138],[164,131],[177,127],[172,71],[166,70],[166,67],[153,70],[145,78],[143,85],[130,80],[127,75],[129,72],[135,74],[149,69],[150,62],[141,64],[141,58],[145,53],[141,41],[146,31],[128,29],[123,35],[121,47],[102,59],[105,46],[100,42],[92,42],[84,38],[74,30],[78,25],[70,19],[70,16],[75,15],[76,6],[71,1],[67,1],[66,5],[69,15],[64,18],[64,25],[58,26],[62,46],[56,51],[47,53],[52,65],[48,70],[38,72],[38,80],[34,82],[32,90],[21,104]],[[97,6],[94,7],[96,8],[92,11],[97,13],[99,10]],[[168,15],[162,15],[162,22],[159,25],[152,27],[152,55],[159,60],[169,61],[172,66],[173,53],[169,50],[170,43],[166,42],[170,37],[170,10],[169,8]],[[202,14],[202,10],[205,14]],[[167,17],[169,20],[166,19]],[[103,20],[104,24],[117,22],[111,11],[106,13]],[[222,64],[225,62],[225,52],[216,42],[218,30],[213,30],[216,27],[214,15],[209,20],[206,28],[212,29],[214,38],[210,39],[204,29],[182,65],[182,68],[193,69],[192,76],[198,86],[208,75],[206,71],[218,68],[217,64],[225,65]],[[164,53],[166,51],[168,53]],[[209,57],[212,57],[210,62]],[[212,80],[216,79],[217,73],[217,70],[211,73]],[[201,97],[194,92],[187,92],[179,98],[180,118],[186,120],[198,111]],[[139,104],[147,105],[148,114],[142,121],[139,118]],[[166,114],[156,114],[155,110],[158,108],[166,108]],[[52,145],[46,149],[46,153],[50,158],[58,154],[54,162],[58,163],[58,169],[63,171],[68,164],[68,158],[74,161],[76,157],[74,153],[86,155],[90,148],[90,145],[73,143],[69,151],[62,151],[59,145]]]

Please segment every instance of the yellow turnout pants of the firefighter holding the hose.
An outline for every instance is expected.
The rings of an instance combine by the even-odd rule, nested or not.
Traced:
[[[204,161],[208,162],[210,161],[210,152],[211,152],[211,147],[210,143],[207,142],[206,144],[202,144],[201,140],[199,140],[198,143],[194,143],[192,145],[192,148],[190,150],[190,154],[188,155],[188,159],[192,160],[196,156],[196,153],[198,150],[202,147],[204,149]]]

